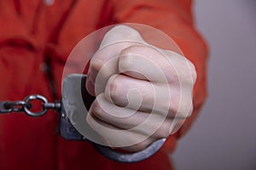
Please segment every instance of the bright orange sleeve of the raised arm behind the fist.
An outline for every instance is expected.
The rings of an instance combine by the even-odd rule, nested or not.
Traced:
[[[201,105],[206,99],[207,45],[196,31],[191,14],[190,0],[112,0],[113,22],[140,23],[164,31],[182,49],[183,54],[195,65],[197,80],[194,88],[194,111],[183,127],[169,137],[164,150],[172,151],[176,140],[182,136],[194,122]]]

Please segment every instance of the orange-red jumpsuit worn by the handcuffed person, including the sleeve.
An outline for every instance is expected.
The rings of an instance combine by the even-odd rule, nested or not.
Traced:
[[[0,100],[43,94],[61,98],[61,74],[73,47],[96,29],[115,23],[142,23],[166,32],[182,48],[198,74],[192,116],[146,161],[109,161],[84,142],[58,135],[58,115],[0,116],[0,169],[170,169],[167,151],[187,131],[206,97],[207,47],[195,30],[190,0],[14,0],[0,3]],[[44,63],[50,63],[51,73]],[[54,82],[49,81],[49,75]],[[51,85],[55,84],[55,93]]]

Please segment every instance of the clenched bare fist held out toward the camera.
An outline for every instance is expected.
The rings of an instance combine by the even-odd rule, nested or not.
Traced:
[[[128,26],[108,31],[90,60],[86,121],[111,147],[138,151],[167,138],[192,112],[195,67]]]

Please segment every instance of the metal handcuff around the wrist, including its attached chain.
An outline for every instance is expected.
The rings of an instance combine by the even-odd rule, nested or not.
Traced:
[[[48,100],[39,94],[29,95],[24,100],[10,102],[10,101],[0,101],[0,114],[11,113],[11,112],[25,112],[28,116],[44,116],[44,114],[49,110],[53,109],[60,113],[60,126],[59,133],[62,138],[67,140],[82,140],[93,144],[97,151],[99,151],[103,156],[108,157],[113,161],[119,162],[137,162],[143,161],[150,156],[153,156],[161,146],[165,143],[166,139],[159,139],[153,144],[150,144],[145,150],[132,153],[124,153],[112,148],[96,144],[90,139],[87,139],[79,133],[73,123],[70,121],[67,111],[70,113],[77,111],[80,107],[77,98],[79,94],[82,94],[83,102],[86,108],[90,108],[90,105],[94,101],[95,97],[88,94],[85,88],[86,76],[82,74],[70,74],[65,77],[62,82],[62,99],[61,101],[55,101],[55,103],[49,103]],[[79,88],[76,88],[79,87]],[[32,100],[41,100],[42,110],[38,112],[31,111]],[[74,105],[70,107],[67,103],[73,103]],[[83,113],[87,114],[87,113]]]

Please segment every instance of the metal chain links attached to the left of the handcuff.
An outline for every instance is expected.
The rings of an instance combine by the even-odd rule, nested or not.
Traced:
[[[31,111],[32,100],[40,100],[42,102],[41,111]],[[39,94],[29,95],[24,100],[0,102],[0,114],[11,113],[11,112],[25,112],[26,115],[28,116],[44,116],[44,114],[49,109],[60,111],[61,102],[55,101],[55,103],[49,103],[44,96]]]

